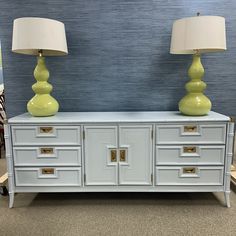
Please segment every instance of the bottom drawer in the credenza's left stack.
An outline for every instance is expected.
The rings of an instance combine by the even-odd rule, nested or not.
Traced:
[[[16,186],[81,186],[81,168],[15,168],[15,181]]]

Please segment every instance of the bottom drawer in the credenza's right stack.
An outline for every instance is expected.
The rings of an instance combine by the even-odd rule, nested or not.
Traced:
[[[156,167],[156,185],[223,185],[224,167]]]

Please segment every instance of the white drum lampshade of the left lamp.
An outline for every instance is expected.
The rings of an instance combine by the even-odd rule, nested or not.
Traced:
[[[46,18],[23,17],[14,20],[12,51],[44,56],[68,54],[65,26],[62,22]]]

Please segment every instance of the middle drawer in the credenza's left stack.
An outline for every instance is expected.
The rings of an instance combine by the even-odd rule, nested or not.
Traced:
[[[15,166],[80,166],[80,147],[14,147]]]

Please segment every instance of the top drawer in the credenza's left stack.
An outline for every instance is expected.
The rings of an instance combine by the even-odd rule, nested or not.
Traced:
[[[80,145],[80,126],[12,126],[13,145]]]

